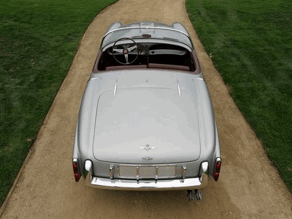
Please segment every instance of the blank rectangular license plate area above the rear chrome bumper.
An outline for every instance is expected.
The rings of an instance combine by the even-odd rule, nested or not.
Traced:
[[[117,175],[123,179],[172,179],[177,165],[119,165]]]

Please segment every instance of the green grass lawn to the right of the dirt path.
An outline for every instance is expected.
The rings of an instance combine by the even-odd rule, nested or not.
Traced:
[[[187,0],[186,8],[238,108],[292,192],[292,1]]]

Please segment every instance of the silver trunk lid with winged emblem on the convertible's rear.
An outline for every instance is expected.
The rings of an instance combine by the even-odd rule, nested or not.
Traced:
[[[171,88],[121,88],[99,96],[95,159],[114,163],[179,163],[200,157],[195,95]]]

